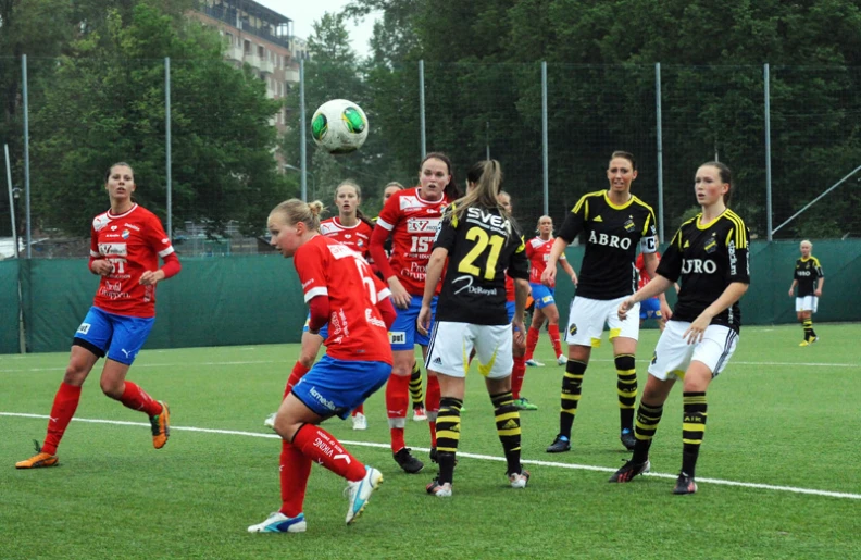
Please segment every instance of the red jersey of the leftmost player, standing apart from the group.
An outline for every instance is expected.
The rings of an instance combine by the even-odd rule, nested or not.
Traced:
[[[155,286],[141,286],[140,276],[159,270],[159,257],[173,252],[161,221],[146,208],[135,204],[123,214],[109,210],[97,215],[90,228],[90,261],[105,259],[113,272],[101,276],[93,304],[117,315],[155,316]]]

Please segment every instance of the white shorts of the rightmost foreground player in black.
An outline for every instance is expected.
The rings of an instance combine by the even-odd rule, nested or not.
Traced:
[[[690,327],[686,321],[667,321],[658,339],[649,374],[661,381],[682,379],[694,360],[702,362],[716,377],[729,361],[738,344],[738,333],[723,325],[709,325],[702,340],[689,345],[682,335]]]

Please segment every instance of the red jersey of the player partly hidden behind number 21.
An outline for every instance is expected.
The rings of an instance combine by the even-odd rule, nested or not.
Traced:
[[[445,196],[432,202],[419,195],[419,187],[413,187],[391,195],[377,219],[377,227],[391,232],[389,264],[404,289],[413,296],[424,295],[434,237],[448,206]],[[439,295],[440,288],[441,283],[434,294]]]

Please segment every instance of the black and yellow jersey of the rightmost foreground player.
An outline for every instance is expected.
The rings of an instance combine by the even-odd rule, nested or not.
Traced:
[[[745,222],[729,209],[704,225],[700,224],[701,216],[697,214],[682,224],[658,265],[658,274],[682,284],[673,310],[673,319],[677,321],[695,321],[729,284],[750,284],[750,233]],[[738,302],[711,323],[738,331],[741,326]]]

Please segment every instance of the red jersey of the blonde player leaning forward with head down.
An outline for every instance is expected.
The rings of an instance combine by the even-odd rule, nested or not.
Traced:
[[[297,249],[294,265],[305,302],[316,296],[329,300],[326,353],[338,360],[392,363],[388,329],[376,302],[388,288],[352,249],[317,235]]]

